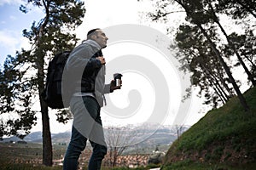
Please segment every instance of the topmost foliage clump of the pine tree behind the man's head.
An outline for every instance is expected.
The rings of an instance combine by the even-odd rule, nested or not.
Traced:
[[[44,55],[47,52],[55,54],[61,50],[71,50],[77,42],[73,31],[82,24],[85,9],[84,3],[78,0],[63,1],[28,1],[38,8],[44,8],[44,19],[32,23],[30,31],[23,30],[23,36],[27,37],[38,52]],[[23,5],[23,8],[28,8]],[[39,42],[39,43],[38,43]],[[35,56],[36,57],[36,56]]]

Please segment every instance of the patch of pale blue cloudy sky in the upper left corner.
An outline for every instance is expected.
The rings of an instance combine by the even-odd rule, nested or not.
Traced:
[[[16,50],[26,46],[22,30],[29,29],[32,20],[38,20],[38,14],[23,14],[18,1],[1,1],[0,3],[0,62],[7,55],[14,55]]]

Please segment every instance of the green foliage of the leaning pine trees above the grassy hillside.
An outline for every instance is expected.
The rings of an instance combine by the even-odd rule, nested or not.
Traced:
[[[211,105],[212,108],[218,108],[224,105],[236,91],[241,105],[244,105],[247,110],[247,104],[238,87],[239,83],[232,77],[230,68],[241,65],[247,73],[248,83],[255,86],[256,66],[255,58],[252,58],[254,49],[247,48],[255,43],[254,26],[248,24],[253,20],[252,15],[256,18],[255,8],[253,8],[255,3],[251,0],[163,0],[155,3],[155,12],[148,14],[148,17],[154,21],[173,20],[168,18],[168,15],[176,13],[172,9],[174,3],[186,13],[186,22],[179,26],[176,34],[179,50],[177,59],[184,64],[181,67],[183,71],[188,71],[185,65],[189,65],[193,85],[201,89],[200,96],[205,98],[204,103]],[[236,33],[227,35],[225,31],[227,28],[221,25],[221,22],[226,22],[220,20],[221,14],[222,16],[226,14],[228,19],[234,19],[232,21],[242,26],[244,33],[237,32],[237,34],[243,34],[241,37],[240,35],[233,37]],[[223,41],[223,35],[228,43]],[[247,41],[244,41],[245,37]],[[243,41],[240,41],[242,38]],[[234,55],[237,61],[232,59]]]

